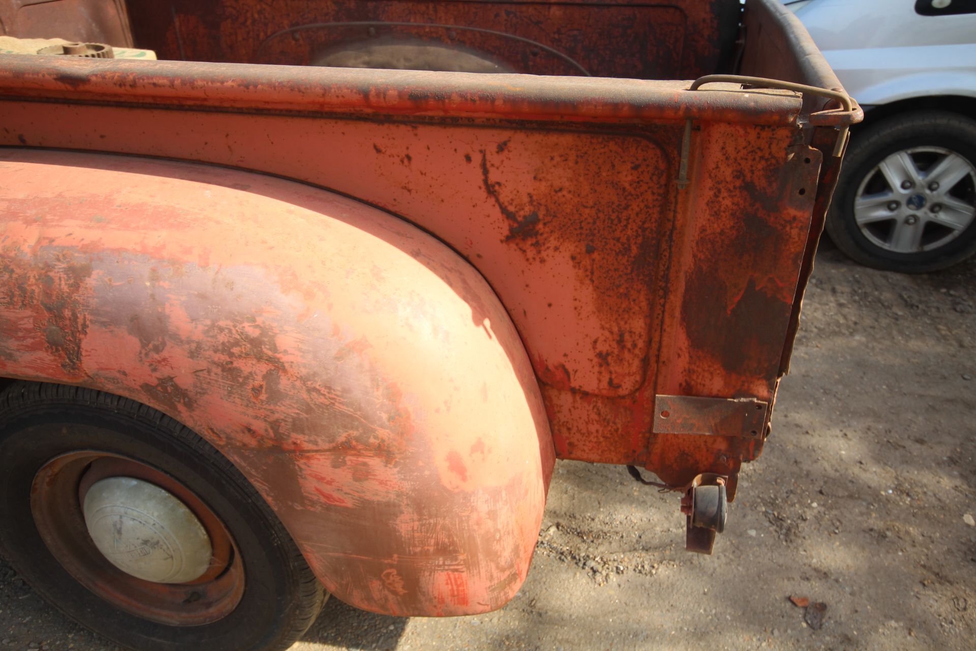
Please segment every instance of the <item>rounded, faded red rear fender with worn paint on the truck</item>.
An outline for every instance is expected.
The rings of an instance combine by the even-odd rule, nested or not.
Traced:
[[[5,149],[0,175],[0,375],[192,427],[355,606],[465,615],[519,589],[549,425],[508,314],[458,255],[224,168]]]

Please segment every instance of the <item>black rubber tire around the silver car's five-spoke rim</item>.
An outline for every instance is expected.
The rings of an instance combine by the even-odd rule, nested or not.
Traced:
[[[976,164],[976,121],[949,111],[914,111],[885,118],[851,136],[827,218],[831,239],[847,256],[877,269],[924,273],[976,253],[976,220],[948,243],[917,253],[898,253],[876,245],[854,220],[858,188],[875,166],[896,151],[925,146],[949,149]]]

